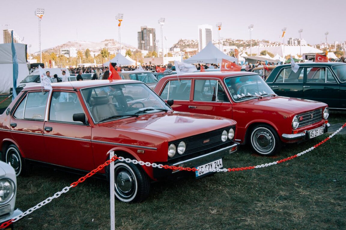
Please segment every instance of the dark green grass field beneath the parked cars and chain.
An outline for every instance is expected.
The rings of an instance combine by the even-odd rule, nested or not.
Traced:
[[[331,112],[329,121],[345,123],[345,113]],[[327,136],[287,145],[274,157],[242,146],[224,167],[277,161]],[[116,229],[346,229],[345,143],[346,135],[337,134],[274,166],[154,183],[142,203],[116,201]],[[80,177],[34,167],[29,177],[17,178],[16,205],[25,211]],[[109,209],[108,183],[90,178],[17,221],[15,229],[110,229]]]

